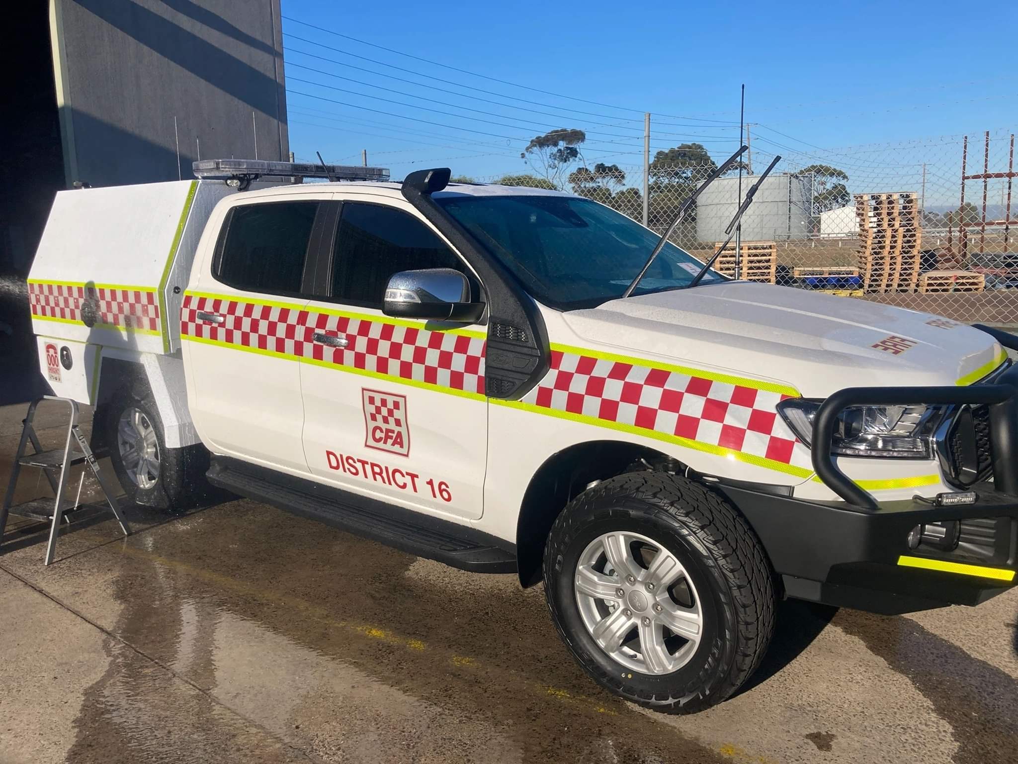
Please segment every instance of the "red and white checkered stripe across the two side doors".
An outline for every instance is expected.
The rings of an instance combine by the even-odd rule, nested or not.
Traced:
[[[199,321],[199,311],[218,313],[226,321]],[[315,342],[312,335],[316,332],[345,337],[349,344],[333,347]],[[454,390],[485,392],[485,340],[480,337],[191,294],[184,295],[180,333]]]

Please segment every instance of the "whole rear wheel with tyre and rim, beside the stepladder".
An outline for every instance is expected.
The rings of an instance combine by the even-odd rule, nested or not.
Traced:
[[[190,508],[208,490],[204,446],[169,448],[148,387],[122,390],[105,406],[113,471],[127,499],[170,512]]]

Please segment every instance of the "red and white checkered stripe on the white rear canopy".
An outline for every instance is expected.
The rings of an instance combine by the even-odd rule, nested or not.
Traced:
[[[87,299],[95,301],[97,325],[159,331],[159,298],[153,289],[29,282],[29,306],[38,318],[81,321]]]

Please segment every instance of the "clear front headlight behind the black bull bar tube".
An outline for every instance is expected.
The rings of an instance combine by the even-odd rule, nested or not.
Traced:
[[[778,413],[799,440],[810,445],[818,400],[788,398]],[[934,433],[942,406],[861,405],[838,417],[831,452],[843,456],[881,456],[928,459],[934,457]]]

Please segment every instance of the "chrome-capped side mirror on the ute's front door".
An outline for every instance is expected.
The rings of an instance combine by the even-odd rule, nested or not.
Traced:
[[[484,303],[470,302],[470,282],[452,268],[400,271],[389,278],[382,312],[386,316],[473,323]]]

